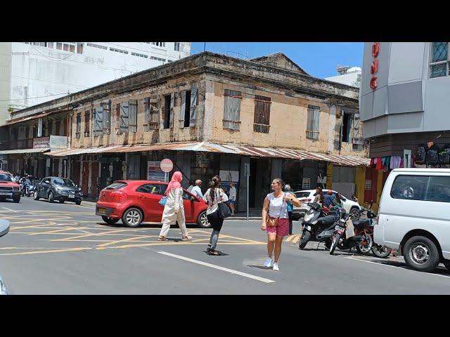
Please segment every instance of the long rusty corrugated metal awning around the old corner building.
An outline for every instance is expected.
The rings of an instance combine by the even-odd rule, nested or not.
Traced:
[[[103,153],[127,153],[127,152],[148,152],[148,151],[201,151],[201,152],[216,152],[226,154],[240,154],[250,157],[273,157],[299,160],[315,160],[327,161],[340,166],[368,166],[371,159],[356,156],[343,156],[335,154],[324,154],[317,152],[309,152],[304,150],[293,150],[287,148],[274,147],[255,147],[255,146],[241,146],[234,144],[218,144],[210,142],[195,142],[195,143],[168,143],[161,145],[135,145],[122,146],[115,145],[110,147],[94,147],[82,148],[75,150],[64,150],[46,153],[53,157],[72,156],[77,154],[103,154]]]

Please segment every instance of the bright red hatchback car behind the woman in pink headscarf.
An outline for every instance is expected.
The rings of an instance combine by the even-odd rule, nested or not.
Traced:
[[[96,215],[113,225],[122,219],[129,227],[142,222],[161,223],[164,207],[159,201],[164,197],[168,183],[150,180],[117,180],[100,192],[96,203]],[[184,190],[184,189],[183,189]],[[198,227],[211,227],[206,217],[207,204],[184,190],[184,215],[186,223]]]

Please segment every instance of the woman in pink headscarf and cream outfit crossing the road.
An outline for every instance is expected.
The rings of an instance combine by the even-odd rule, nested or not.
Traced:
[[[164,206],[164,212],[162,213],[162,228],[158,241],[167,241],[166,236],[169,232],[170,225],[175,225],[176,222],[178,222],[181,229],[181,240],[189,241],[191,239],[191,237],[188,237],[188,230],[186,230],[181,180],[183,180],[183,175],[180,171],[176,171],[167,186],[165,193],[167,202],[166,206]]]

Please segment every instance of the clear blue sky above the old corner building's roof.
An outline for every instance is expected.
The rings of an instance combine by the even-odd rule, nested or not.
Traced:
[[[204,42],[193,42],[191,53],[203,51]],[[337,75],[337,65],[361,67],[362,42],[207,42],[206,50],[235,58],[258,58],[281,52],[314,77]]]

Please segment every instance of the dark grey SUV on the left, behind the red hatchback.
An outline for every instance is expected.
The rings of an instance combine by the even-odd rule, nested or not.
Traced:
[[[59,177],[47,177],[37,184],[34,192],[34,200],[40,198],[49,199],[49,202],[58,200],[61,204],[64,201],[74,201],[79,205],[82,203],[82,189],[75,185],[72,180]]]

